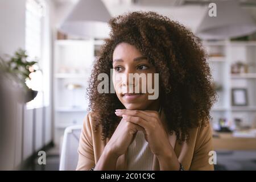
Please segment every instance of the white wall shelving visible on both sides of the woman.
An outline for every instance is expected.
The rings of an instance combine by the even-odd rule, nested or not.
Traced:
[[[93,61],[102,40],[57,40],[55,43],[54,98],[55,98],[55,143],[59,143],[67,126],[81,124],[86,115],[88,101],[85,94]],[[234,121],[241,118],[243,125],[256,123],[256,42],[216,41],[203,42],[210,56],[213,79],[222,89],[218,93],[218,102],[211,114],[213,125],[218,119]],[[254,63],[249,73],[231,74],[231,65],[238,60]],[[68,90],[67,84],[82,86],[77,90]],[[246,88],[247,106],[232,106],[232,88]]]

